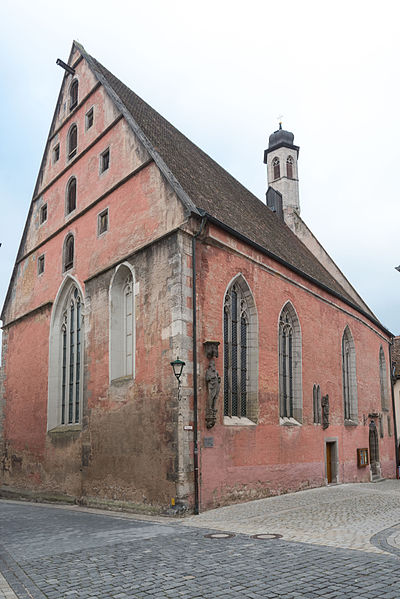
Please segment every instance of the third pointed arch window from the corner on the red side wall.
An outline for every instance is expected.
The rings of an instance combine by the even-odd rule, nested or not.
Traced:
[[[345,424],[358,423],[356,348],[350,328],[342,337],[343,403]]]

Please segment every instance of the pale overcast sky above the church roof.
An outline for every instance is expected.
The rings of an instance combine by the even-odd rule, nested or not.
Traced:
[[[398,0],[3,0],[0,303],[73,39],[265,199],[283,115],[301,215],[400,333]]]

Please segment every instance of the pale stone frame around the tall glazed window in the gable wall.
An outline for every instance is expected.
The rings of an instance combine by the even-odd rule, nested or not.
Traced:
[[[77,290],[76,295],[74,295]],[[73,401],[73,417],[71,422],[65,422],[69,418],[65,418],[66,405],[64,403],[64,418],[63,418],[63,386],[69,383],[68,370],[70,346],[64,346],[64,340],[67,344],[70,343],[68,339],[68,332],[70,333],[70,322],[68,317],[71,318],[71,302],[75,302],[77,305],[77,299],[79,298],[80,304],[80,344],[77,343],[75,336],[75,347],[79,349],[79,360],[77,360],[77,352],[73,356],[73,371],[74,379],[72,383],[72,401]],[[76,309],[76,308],[75,308]],[[68,314],[69,312],[69,314]],[[77,314],[77,311],[75,312]],[[83,375],[84,375],[84,327],[85,327],[85,313],[84,313],[84,293],[81,288],[79,281],[71,276],[66,275],[63,282],[61,283],[56,299],[53,304],[53,309],[50,318],[50,336],[49,336],[49,368],[48,368],[48,400],[47,400],[47,431],[62,431],[62,430],[76,430],[81,428],[82,423],[82,406],[83,406]],[[64,330],[67,330],[67,335],[64,336]],[[75,330],[75,335],[77,331]],[[67,361],[64,364],[64,355],[67,357]],[[79,364],[79,367],[78,367]],[[79,370],[79,374],[78,374]],[[76,375],[78,374],[79,384],[76,384]],[[66,377],[66,378],[64,378]]]

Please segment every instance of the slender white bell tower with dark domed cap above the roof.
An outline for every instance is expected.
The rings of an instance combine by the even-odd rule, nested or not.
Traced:
[[[282,123],[279,123],[279,129],[269,136],[268,149],[264,152],[268,188],[281,194],[285,221],[290,220],[293,212],[300,214],[297,169],[300,148],[293,144],[293,140],[293,133],[282,129]]]

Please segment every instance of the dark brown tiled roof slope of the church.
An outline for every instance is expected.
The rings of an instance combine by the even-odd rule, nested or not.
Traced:
[[[80,47],[81,50],[83,48]],[[354,300],[296,235],[256,196],[203,152],[96,59],[84,55],[122,102],[151,146],[200,210],[354,305]],[[115,96],[114,96],[115,99]],[[365,312],[364,307],[357,305]],[[369,315],[371,316],[371,314]]]

